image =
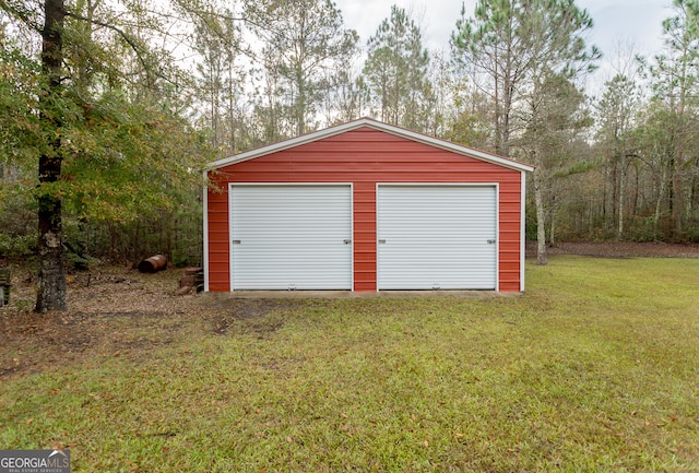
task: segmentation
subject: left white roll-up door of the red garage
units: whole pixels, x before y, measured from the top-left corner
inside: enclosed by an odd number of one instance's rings
[[[232,185],[235,289],[351,289],[350,186]]]

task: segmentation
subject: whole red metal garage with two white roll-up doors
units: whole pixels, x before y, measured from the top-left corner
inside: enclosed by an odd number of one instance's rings
[[[521,292],[531,170],[367,118],[217,161],[205,289]]]

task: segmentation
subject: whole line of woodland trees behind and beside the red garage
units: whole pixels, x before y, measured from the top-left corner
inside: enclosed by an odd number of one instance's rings
[[[197,264],[205,163],[363,116],[535,165],[540,263],[698,241],[699,0],[668,1],[663,50],[591,91],[574,0],[478,0],[440,51],[398,5],[364,39],[331,0],[0,0],[0,259],[40,311],[91,258]]]

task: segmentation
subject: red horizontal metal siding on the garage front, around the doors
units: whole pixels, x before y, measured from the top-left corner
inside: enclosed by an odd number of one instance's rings
[[[499,184],[499,291],[520,289],[521,173],[371,128],[347,131],[212,173],[209,289],[229,291],[228,182],[352,182],[354,289],[376,291],[376,188],[381,182]]]

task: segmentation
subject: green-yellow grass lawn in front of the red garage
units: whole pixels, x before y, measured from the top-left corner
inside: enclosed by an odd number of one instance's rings
[[[69,447],[74,472],[699,471],[699,259],[556,257],[526,289],[102,317],[122,351],[0,378],[0,449]]]

